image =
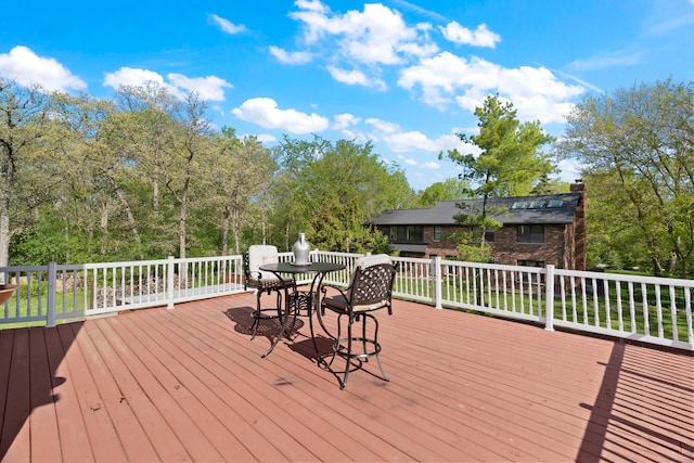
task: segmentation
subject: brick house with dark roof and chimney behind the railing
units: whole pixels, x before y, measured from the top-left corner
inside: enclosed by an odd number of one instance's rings
[[[388,210],[368,223],[389,236],[403,257],[458,258],[458,242],[450,235],[471,231],[454,219],[463,213],[461,203],[481,207],[481,200],[442,201],[426,209]],[[583,183],[571,184],[570,193],[491,198],[489,206],[500,211],[490,216],[503,224],[485,235],[494,263],[586,270]]]

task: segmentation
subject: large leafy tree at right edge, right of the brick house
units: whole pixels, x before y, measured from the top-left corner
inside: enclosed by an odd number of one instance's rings
[[[587,95],[557,153],[584,166],[589,256],[607,260],[618,250],[611,260],[694,274],[694,82]]]

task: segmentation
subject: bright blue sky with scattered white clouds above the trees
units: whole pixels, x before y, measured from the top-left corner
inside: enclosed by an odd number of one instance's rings
[[[217,127],[371,141],[422,190],[460,169],[474,108],[499,93],[561,137],[590,92],[694,79],[694,0],[5,2],[0,74],[112,98],[197,91]],[[562,178],[576,177],[573,163]]]

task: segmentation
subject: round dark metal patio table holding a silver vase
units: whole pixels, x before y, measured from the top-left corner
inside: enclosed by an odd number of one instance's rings
[[[321,363],[321,356],[318,350],[318,344],[316,343],[316,335],[313,332],[313,312],[318,313],[318,321],[323,329],[325,330],[325,325],[321,319],[320,313],[320,288],[323,283],[323,279],[327,273],[344,270],[346,267],[342,263],[334,262],[309,262],[306,265],[298,265],[294,262],[277,262],[277,263],[267,263],[261,266],[259,269],[262,271],[274,273],[278,278],[285,282],[284,284],[284,313],[282,319],[282,329],[280,333],[277,335],[270,348],[262,355],[262,358],[267,357],[272,352],[275,346],[283,339],[287,338],[292,329],[294,327],[294,323],[296,322],[296,317],[300,316],[301,310],[306,310],[308,316],[308,324],[310,330],[311,340],[313,343],[313,348],[316,349],[316,359],[318,364]],[[313,279],[311,280],[308,290],[297,290],[295,285],[286,284],[286,280],[282,279],[282,274],[292,274],[293,276],[297,274],[312,273]]]

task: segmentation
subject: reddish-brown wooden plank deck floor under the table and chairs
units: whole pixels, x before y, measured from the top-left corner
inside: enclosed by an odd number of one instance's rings
[[[306,319],[261,359],[277,329],[249,340],[254,305],[0,331],[0,460],[694,461],[691,352],[396,301],[391,382],[340,390]]]

